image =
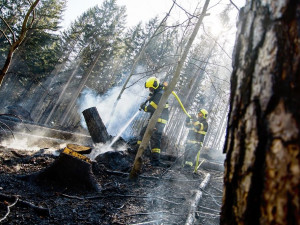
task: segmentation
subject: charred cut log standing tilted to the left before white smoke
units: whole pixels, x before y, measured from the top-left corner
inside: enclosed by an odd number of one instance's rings
[[[110,139],[96,107],[88,108],[82,114],[94,143],[105,143]]]

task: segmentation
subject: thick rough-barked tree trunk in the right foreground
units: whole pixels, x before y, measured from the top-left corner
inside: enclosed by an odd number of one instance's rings
[[[299,36],[298,0],[240,12],[221,224],[300,224]]]

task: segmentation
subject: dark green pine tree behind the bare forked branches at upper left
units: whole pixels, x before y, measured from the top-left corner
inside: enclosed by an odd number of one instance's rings
[[[15,33],[20,32],[26,6],[28,7],[28,1],[7,1],[3,5],[4,20]],[[7,101],[2,104],[23,101],[27,95],[32,94],[31,91],[35,90],[36,85],[53,70],[57,58],[60,56],[57,51],[58,35],[55,34],[55,31],[59,29],[58,25],[64,6],[65,2],[62,0],[43,0],[37,5],[35,19],[12,58],[8,79],[1,90],[2,95],[12,98],[5,98]],[[6,29],[3,24],[1,24],[2,28]],[[3,60],[4,52],[7,51],[6,42],[1,42],[0,60]],[[1,62],[3,63],[3,61]],[[13,91],[7,88],[10,85],[15,86]],[[23,102],[23,105],[26,105],[26,101]]]

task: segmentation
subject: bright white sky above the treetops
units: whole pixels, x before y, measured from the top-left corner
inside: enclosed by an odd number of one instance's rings
[[[180,5],[184,6],[189,12],[193,12],[198,0],[177,0]],[[211,0],[210,5],[215,5],[219,0]],[[238,6],[242,7],[245,0],[233,0]],[[63,28],[67,28],[72,21],[80,16],[87,9],[103,3],[103,0],[67,0],[67,8],[64,13]],[[229,0],[223,0],[221,4],[229,3]],[[159,16],[163,18],[171,8],[172,0],[117,0],[118,5],[124,5],[127,9],[127,25],[129,27],[136,25],[138,22],[147,22],[149,19]],[[204,0],[201,2],[201,6]],[[177,7],[171,15],[171,20],[180,20],[180,17],[186,18],[183,11]]]

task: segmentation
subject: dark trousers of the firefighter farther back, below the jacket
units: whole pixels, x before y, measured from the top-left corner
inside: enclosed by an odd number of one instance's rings
[[[195,171],[197,170],[197,167],[199,165],[199,156],[200,156],[200,150],[201,150],[202,144],[197,143],[187,143],[185,147],[184,152],[184,159],[183,164],[184,166],[191,166],[195,168]]]

